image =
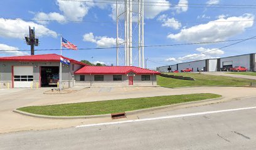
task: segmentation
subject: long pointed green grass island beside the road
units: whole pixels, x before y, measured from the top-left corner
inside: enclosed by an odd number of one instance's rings
[[[134,111],[137,109],[153,108],[157,106],[165,106],[220,97],[220,95],[208,93],[186,94],[174,96],[156,96],[149,98],[119,99],[87,103],[58,104],[49,106],[29,106],[25,108],[19,108],[18,110],[48,116],[87,116]]]

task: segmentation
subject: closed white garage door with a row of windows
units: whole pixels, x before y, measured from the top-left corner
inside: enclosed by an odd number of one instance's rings
[[[33,66],[13,67],[14,88],[30,88],[33,84]]]

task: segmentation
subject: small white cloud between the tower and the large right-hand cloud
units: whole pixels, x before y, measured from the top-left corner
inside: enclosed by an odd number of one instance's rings
[[[174,19],[174,17],[169,18],[166,14],[159,16],[157,20],[163,22],[162,26],[165,27],[171,27],[173,29],[179,29],[181,27],[181,22]]]

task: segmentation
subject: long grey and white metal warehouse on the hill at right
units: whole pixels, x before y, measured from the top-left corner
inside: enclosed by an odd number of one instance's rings
[[[227,58],[218,59],[204,59],[200,61],[190,61],[186,63],[179,63],[170,66],[161,66],[157,68],[160,72],[169,72],[182,69],[192,69],[196,71],[221,71],[223,68],[233,68],[235,66],[243,66],[248,71],[256,71],[256,56],[253,54],[243,54],[239,56],[230,56]]]

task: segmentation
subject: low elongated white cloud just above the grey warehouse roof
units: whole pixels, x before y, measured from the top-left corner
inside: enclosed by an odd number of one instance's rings
[[[220,49],[206,49],[204,47],[199,47],[196,51],[200,53],[188,54],[179,58],[168,58],[166,61],[174,61],[176,63],[182,63],[183,61],[198,61],[203,59],[212,59],[218,58],[219,56],[224,54],[224,51]]]

